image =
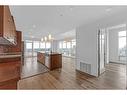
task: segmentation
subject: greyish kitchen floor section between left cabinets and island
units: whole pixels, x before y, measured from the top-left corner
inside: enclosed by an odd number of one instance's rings
[[[31,77],[48,71],[47,67],[37,62],[37,57],[26,57],[24,65],[22,65],[21,78]]]

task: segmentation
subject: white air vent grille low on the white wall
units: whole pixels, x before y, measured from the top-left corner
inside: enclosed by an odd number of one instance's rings
[[[80,70],[85,73],[91,74],[91,64],[80,62]]]

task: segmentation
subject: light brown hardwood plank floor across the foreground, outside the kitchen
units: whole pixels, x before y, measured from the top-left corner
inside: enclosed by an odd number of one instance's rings
[[[126,66],[109,64],[100,77],[75,71],[75,60],[63,57],[62,69],[22,79],[18,89],[126,89]]]

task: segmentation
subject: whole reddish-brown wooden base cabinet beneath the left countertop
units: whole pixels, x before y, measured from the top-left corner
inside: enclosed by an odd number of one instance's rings
[[[21,61],[0,63],[0,89],[17,89]]]

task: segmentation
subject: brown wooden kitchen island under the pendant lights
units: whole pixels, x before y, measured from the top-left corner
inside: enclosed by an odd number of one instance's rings
[[[45,65],[49,70],[62,67],[62,54],[56,52],[37,52],[37,61]]]

